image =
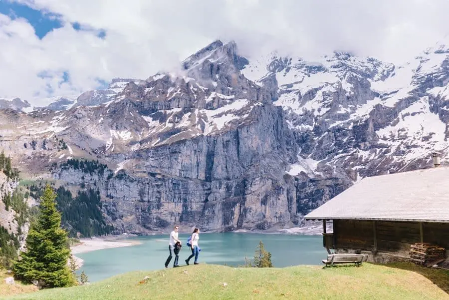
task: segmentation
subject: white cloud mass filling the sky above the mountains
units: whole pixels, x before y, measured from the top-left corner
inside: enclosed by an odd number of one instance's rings
[[[0,95],[38,104],[49,87],[76,94],[96,78],[147,78],[216,38],[234,39],[246,56],[342,50],[402,62],[449,32],[448,0],[15,1],[107,32],[103,40],[66,23],[39,40],[26,20],[0,14]],[[70,84],[58,83],[64,71]]]

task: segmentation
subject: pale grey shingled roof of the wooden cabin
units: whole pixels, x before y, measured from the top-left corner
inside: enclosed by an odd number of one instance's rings
[[[366,177],[304,219],[449,223],[449,167]]]

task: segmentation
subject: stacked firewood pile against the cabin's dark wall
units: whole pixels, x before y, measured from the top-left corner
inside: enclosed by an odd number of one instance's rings
[[[446,259],[446,249],[428,243],[416,243],[410,247],[409,255],[417,265],[432,266]]]

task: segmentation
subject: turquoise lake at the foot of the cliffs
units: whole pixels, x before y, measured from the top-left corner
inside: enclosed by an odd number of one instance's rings
[[[185,245],[188,234],[180,234]],[[110,248],[81,253],[77,256],[84,260],[84,271],[90,282],[130,272],[151,271],[164,268],[168,257],[168,235],[133,237],[142,244],[122,248]],[[284,235],[284,234],[248,234],[248,233],[202,233],[200,235],[199,262],[237,266],[244,264],[245,256],[252,258],[255,249],[262,241],[265,249],[271,252],[274,267],[296,265],[320,265],[327,256],[321,236]],[[191,254],[183,246],[180,252],[180,265]],[[173,267],[172,259],[169,268]],[[191,260],[193,263],[193,259]]]

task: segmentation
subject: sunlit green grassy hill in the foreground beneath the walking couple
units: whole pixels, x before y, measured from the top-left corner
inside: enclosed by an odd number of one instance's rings
[[[444,277],[449,280],[449,274],[441,272],[443,281]],[[146,276],[149,278],[144,280]],[[198,265],[132,272],[88,286],[42,290],[6,299],[449,300],[449,295],[418,273],[372,264],[326,269],[318,266],[253,269]]]

